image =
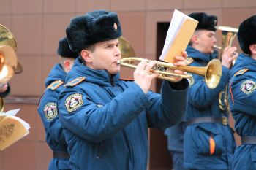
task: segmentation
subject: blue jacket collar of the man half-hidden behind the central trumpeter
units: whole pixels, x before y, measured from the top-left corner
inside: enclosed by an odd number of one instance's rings
[[[50,73],[48,74],[48,77],[45,80],[45,87],[50,85],[53,81],[61,80],[65,81],[67,76],[67,73],[64,72],[64,70],[61,67],[60,63],[57,63],[55,66],[53,66],[53,69],[50,70]]]

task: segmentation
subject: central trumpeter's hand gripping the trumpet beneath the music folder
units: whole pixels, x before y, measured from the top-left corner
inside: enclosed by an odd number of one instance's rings
[[[187,52],[186,51],[182,51],[182,56],[175,56],[174,57],[174,61],[173,61],[173,65],[174,66],[187,66],[187,62],[186,62],[186,58],[187,58]],[[186,75],[187,72],[178,70],[178,69],[170,69],[167,68],[167,72],[172,72],[175,74],[181,74],[181,75]],[[179,82],[181,81],[183,78],[182,77],[175,77],[175,76],[169,76],[172,77],[173,80],[171,80],[172,82]]]

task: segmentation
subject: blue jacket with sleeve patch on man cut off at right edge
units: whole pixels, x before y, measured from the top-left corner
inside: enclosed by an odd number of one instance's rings
[[[256,136],[256,60],[241,53],[230,71],[230,111],[239,136]],[[256,169],[256,145],[242,144],[234,155],[234,170]]]

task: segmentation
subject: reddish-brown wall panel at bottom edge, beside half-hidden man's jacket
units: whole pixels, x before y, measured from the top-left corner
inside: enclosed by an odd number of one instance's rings
[[[36,169],[46,170],[48,169],[49,162],[53,158],[53,153],[45,142],[37,142],[36,144]]]

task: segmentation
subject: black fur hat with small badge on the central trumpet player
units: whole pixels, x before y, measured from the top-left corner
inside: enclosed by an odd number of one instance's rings
[[[66,34],[71,49],[80,53],[89,45],[117,39],[121,36],[121,24],[116,12],[96,10],[72,18]]]

